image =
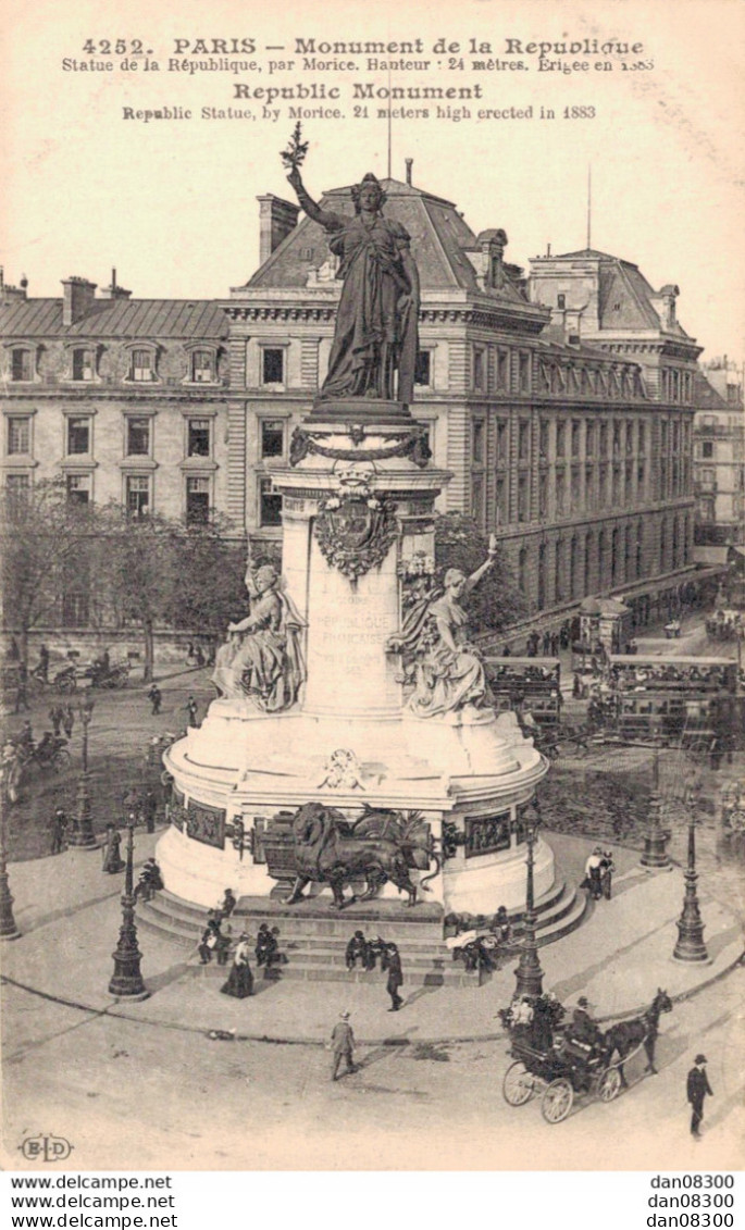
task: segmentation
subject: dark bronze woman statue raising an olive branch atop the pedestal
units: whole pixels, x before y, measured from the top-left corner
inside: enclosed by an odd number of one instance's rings
[[[408,232],[384,218],[386,197],[374,175],[352,189],[354,216],[321,209],[296,166],[288,180],[307,216],[329,232],[331,251],[341,258],[337,278],[344,283],[318,400],[376,397],[408,405],[419,319],[419,276]]]

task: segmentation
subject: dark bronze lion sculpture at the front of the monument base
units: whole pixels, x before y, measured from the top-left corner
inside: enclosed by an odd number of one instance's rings
[[[395,812],[370,808],[357,824],[349,824],[334,807],[306,803],[293,820],[298,879],[288,905],[299,902],[304,888],[317,881],[331,886],[334,905],[343,909],[350,904],[344,898],[344,884],[353,879],[366,881],[361,900],[375,897],[390,879],[407,893],[407,905],[414,905],[417,886],[409,868],[425,871],[434,860],[435,872],[425,878],[432,879],[439,871],[439,859],[424,828],[419,824],[407,827]],[[424,881],[419,887],[425,887]]]

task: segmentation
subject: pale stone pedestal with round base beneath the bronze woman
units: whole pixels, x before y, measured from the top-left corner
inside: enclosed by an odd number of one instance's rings
[[[412,878],[428,881],[420,897],[445,915],[525,902],[521,809],[547,764],[510,713],[466,704],[418,717],[408,705],[391,638],[408,562],[434,555],[434,499],[449,475],[427,464],[406,407],[370,405],[317,406],[293,439],[295,464],[273,472],[283,583],[306,625],[298,704],[268,713],[215,700],[166,755],[176,802],[156,857],[166,888],[205,908],[226,887],[268,897],[282,868],[275,850],[267,861],[267,831],[312,802],[350,822],[366,809],[418,813],[436,859]],[[553,854],[540,841],[535,856],[540,897]],[[391,883],[381,895],[400,898]]]

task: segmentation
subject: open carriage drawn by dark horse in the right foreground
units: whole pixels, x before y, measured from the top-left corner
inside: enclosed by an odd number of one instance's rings
[[[593,1037],[585,1038],[573,1036],[570,1026],[556,1033],[545,1030],[537,1033],[532,1022],[515,1025],[510,1028],[514,1061],[502,1084],[504,1100],[510,1106],[524,1106],[540,1095],[547,1123],[566,1119],[577,1095],[612,1102],[627,1086],[623,1065],[642,1049],[647,1053],[647,1070],[655,1071],[659,1017],[671,1009],[666,991],[658,990],[641,1017],[621,1021],[606,1033],[596,1028]]]

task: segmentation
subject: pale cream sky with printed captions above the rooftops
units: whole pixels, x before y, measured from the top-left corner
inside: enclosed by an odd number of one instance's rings
[[[160,71],[65,71],[63,62],[91,60],[87,39],[141,39]],[[262,71],[186,74],[167,71],[176,39],[253,39]],[[304,177],[318,197],[326,188],[387,169],[387,124],[369,105],[354,116],[354,81],[388,84],[385,71],[305,71],[298,38],[402,41],[422,38],[429,69],[393,71],[391,85],[470,87],[482,100],[454,101],[470,118],[391,122],[393,175],[404,178],[414,159],[414,183],[456,202],[475,231],[502,226],[507,257],[524,264],[586,242],[588,167],[593,176],[591,245],[637,263],[659,288],[680,287],[679,319],[704,347],[704,359],[745,357],[744,159],[745,5],[740,0],[192,0],[154,5],[128,0],[6,0],[0,82],[0,156],[5,169],[0,204],[0,263],[7,282],[22,274],[30,294],[58,295],[60,279],[89,277],[106,285],[111,269],[139,298],[221,298],[258,263],[256,197],[291,198],[279,151],[293,129],[286,108],[262,118],[266,105],[234,97],[235,84],[251,90],[298,84],[341,86],[343,119],[307,119],[310,141]],[[452,57],[433,52],[436,39],[460,43]],[[492,57],[509,59],[507,39],[535,42],[597,38],[642,43],[623,69],[538,71],[538,57],[522,58],[527,71],[471,69],[470,39],[489,43]],[[268,52],[267,46],[284,47]],[[463,52],[466,53],[463,55]],[[204,60],[198,50],[186,58]],[[182,57],[183,58],[183,57]],[[269,74],[269,59],[291,68]],[[329,57],[318,57],[328,59]],[[339,57],[344,59],[344,57]],[[395,59],[395,55],[390,58]],[[459,68],[463,59],[466,66]],[[452,59],[452,66],[449,62]],[[550,54],[546,60],[557,57]],[[563,57],[573,63],[577,57]],[[583,57],[579,57],[583,59]],[[649,66],[652,65],[652,66]],[[299,103],[296,103],[299,105]],[[305,103],[311,106],[312,103]],[[200,118],[202,107],[254,108],[254,119]],[[446,106],[446,105],[445,105]],[[125,119],[132,111],[191,109],[192,121]],[[525,111],[532,118],[477,117],[478,109]],[[556,118],[537,118],[551,108]],[[595,114],[564,118],[564,108]]]

